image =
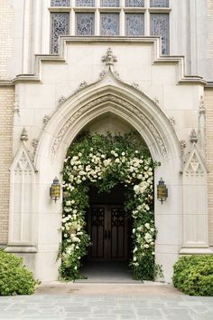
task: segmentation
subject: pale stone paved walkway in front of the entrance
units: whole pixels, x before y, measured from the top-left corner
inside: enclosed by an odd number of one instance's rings
[[[213,297],[152,283],[51,283],[33,296],[0,297],[0,319],[213,320]]]

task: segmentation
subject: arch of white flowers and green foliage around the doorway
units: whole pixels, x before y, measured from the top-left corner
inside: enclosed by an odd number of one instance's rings
[[[154,278],[154,166],[149,150],[132,131],[116,136],[85,132],[71,144],[63,168],[60,278],[80,277],[81,259],[92,245],[85,221],[89,188],[109,192],[118,183],[125,185],[125,212],[133,219],[134,277]]]

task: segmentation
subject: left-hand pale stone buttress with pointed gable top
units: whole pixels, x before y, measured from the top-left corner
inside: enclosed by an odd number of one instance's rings
[[[36,173],[24,142],[14,157],[11,172],[9,246],[6,251],[36,252],[33,246],[33,202]],[[23,249],[24,247],[24,249]]]

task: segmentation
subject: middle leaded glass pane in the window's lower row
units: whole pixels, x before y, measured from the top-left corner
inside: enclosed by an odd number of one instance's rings
[[[100,14],[101,35],[119,34],[119,14]]]

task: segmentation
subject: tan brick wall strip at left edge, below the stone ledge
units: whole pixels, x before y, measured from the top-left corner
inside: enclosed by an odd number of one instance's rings
[[[0,245],[7,243],[12,162],[14,87],[0,86]]]

